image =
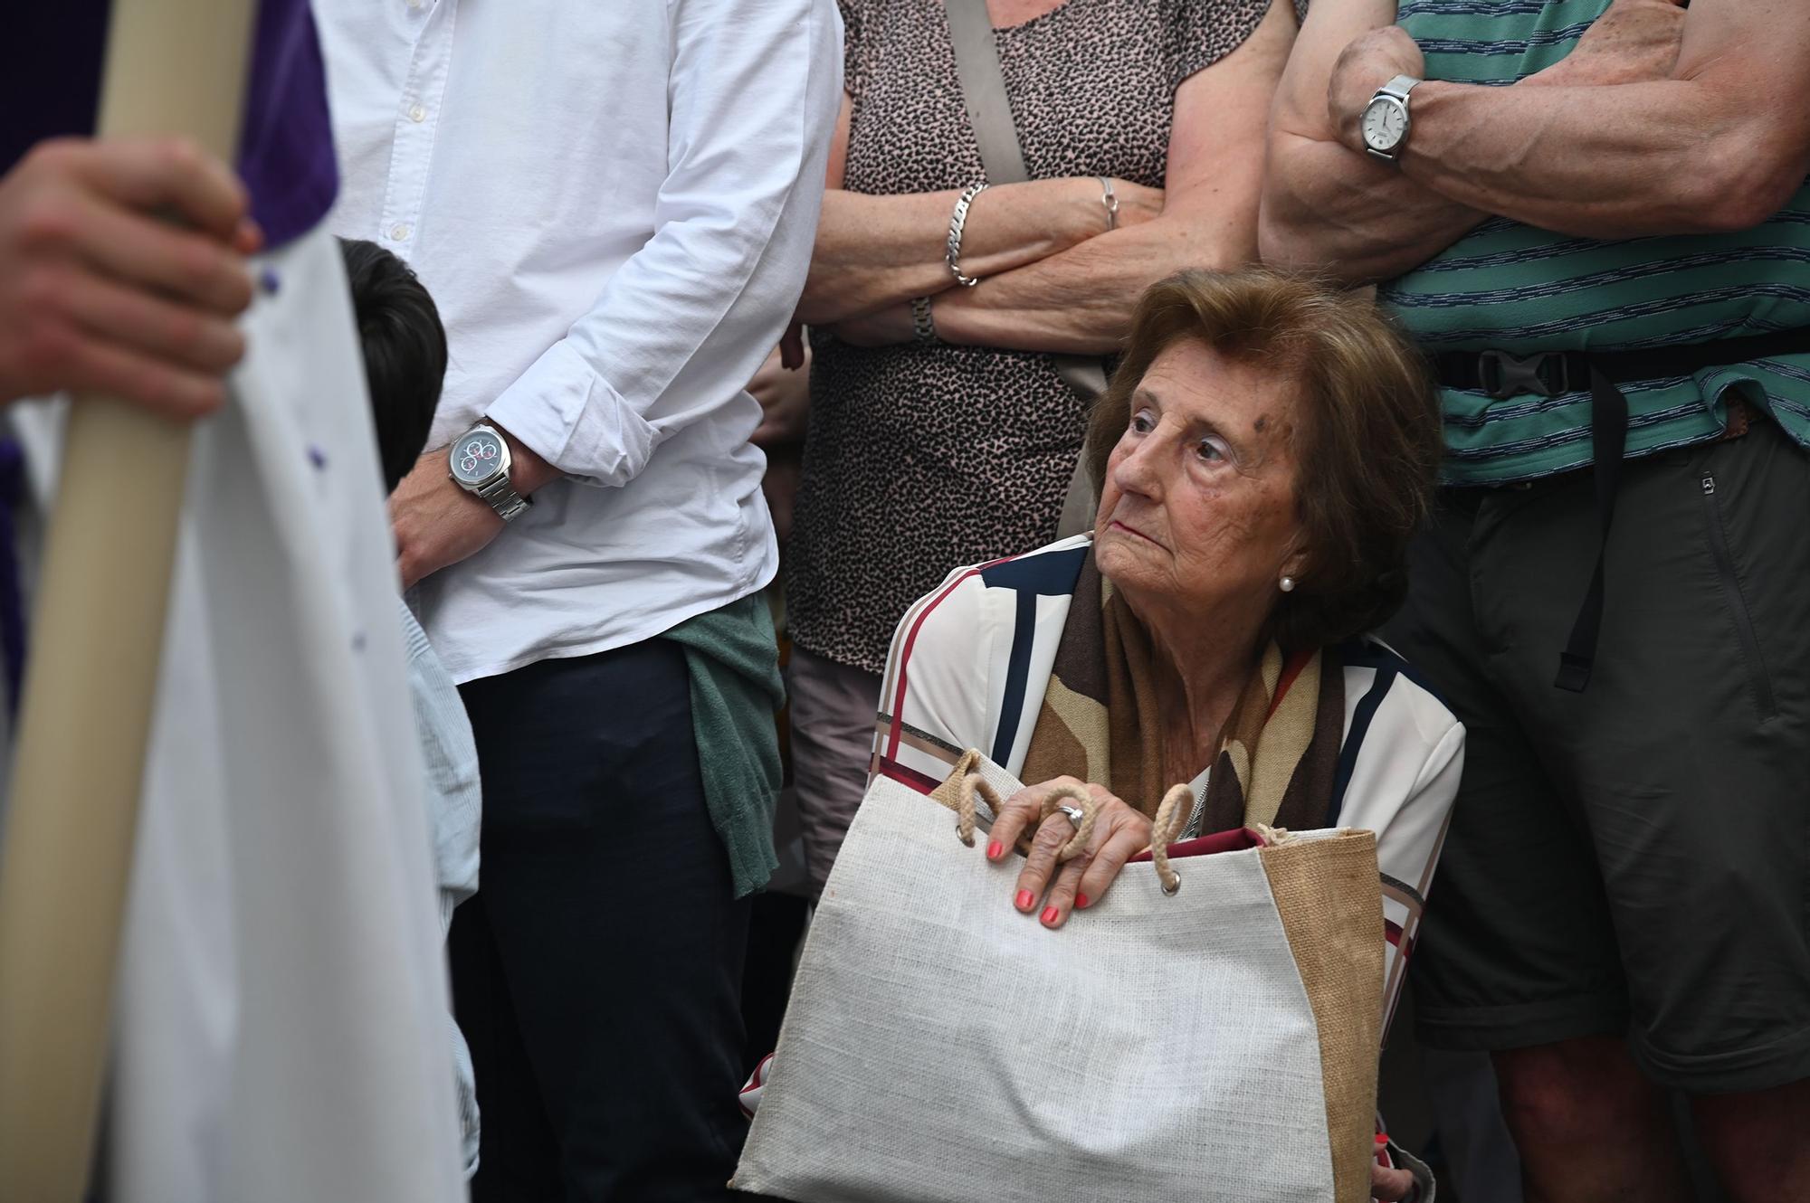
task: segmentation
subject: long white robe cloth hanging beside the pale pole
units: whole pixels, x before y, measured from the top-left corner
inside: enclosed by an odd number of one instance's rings
[[[107,1198],[451,1203],[433,843],[346,273],[322,232],[266,268],[188,465]],[[45,418],[16,414],[40,499]]]

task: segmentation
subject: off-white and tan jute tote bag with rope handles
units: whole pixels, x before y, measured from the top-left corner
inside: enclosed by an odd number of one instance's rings
[[[1019,789],[976,760],[934,796],[867,791],[733,1185],[795,1203],[1365,1203],[1374,836],[1133,863],[1050,932],[1010,906],[1017,857],[988,863],[974,838],[986,796]],[[1180,830],[1175,800],[1157,830]]]

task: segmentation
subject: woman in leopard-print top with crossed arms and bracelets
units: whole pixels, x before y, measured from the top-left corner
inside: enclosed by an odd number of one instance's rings
[[[1030,183],[985,183],[945,9],[838,0],[842,119],[811,279],[811,425],[787,548],[793,763],[820,890],[867,781],[900,615],[954,563],[1048,543],[1086,402],[1055,353],[1110,355],[1146,286],[1256,259],[1271,0],[986,0]],[[1117,219],[1104,203],[1111,181]],[[934,338],[916,336],[929,298]],[[919,313],[923,306],[919,304]]]

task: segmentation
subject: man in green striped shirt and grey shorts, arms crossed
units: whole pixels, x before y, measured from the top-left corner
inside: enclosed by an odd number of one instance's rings
[[[1730,1198],[1810,1199],[1806,170],[1803,0],[1321,2],[1281,83],[1265,257],[1444,385],[1388,631],[1470,731],[1417,1009],[1529,1199],[1689,1198],[1660,1087]]]

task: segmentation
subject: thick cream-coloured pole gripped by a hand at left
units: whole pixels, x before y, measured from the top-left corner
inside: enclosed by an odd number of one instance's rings
[[[232,161],[253,0],[114,0],[100,132]],[[72,407],[0,834],[0,1199],[80,1203],[163,653],[188,425]]]

